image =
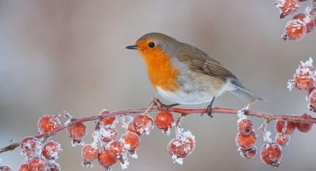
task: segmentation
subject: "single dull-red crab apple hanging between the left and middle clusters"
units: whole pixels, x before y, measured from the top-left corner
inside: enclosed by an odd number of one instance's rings
[[[86,137],[86,125],[81,122],[75,123],[67,128],[67,134],[71,139],[81,140]]]

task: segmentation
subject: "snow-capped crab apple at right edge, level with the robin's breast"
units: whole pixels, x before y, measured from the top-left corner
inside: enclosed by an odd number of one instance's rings
[[[308,63],[310,61],[307,61]],[[294,82],[295,87],[299,91],[310,91],[312,87],[314,87],[315,82],[315,68],[312,66],[311,63],[305,64],[303,63],[302,66],[300,66],[294,75]]]

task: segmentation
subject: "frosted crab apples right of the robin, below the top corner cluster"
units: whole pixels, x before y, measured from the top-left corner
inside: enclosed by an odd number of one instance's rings
[[[294,79],[289,80],[288,88],[293,89],[296,87],[299,91],[308,91],[308,101],[310,102],[310,110],[315,111],[316,108],[316,87],[315,87],[316,73],[315,68],[312,66],[312,58],[305,63],[301,62],[295,72]],[[275,141],[269,138],[271,132],[267,132],[266,126],[259,127],[257,132],[254,132],[252,121],[243,115],[243,110],[240,110],[238,116],[238,134],[236,136],[236,144],[239,147],[240,155],[244,158],[251,159],[257,154],[257,133],[260,129],[263,130],[264,140],[266,144],[260,148],[260,158],[262,163],[271,165],[271,167],[278,167],[282,157],[281,146],[287,146],[290,141],[290,135],[293,134],[295,129],[299,132],[310,132],[312,123],[310,122],[294,122],[291,120],[276,120],[274,126],[276,130]],[[301,118],[312,118],[312,115],[303,113]],[[267,122],[268,124],[269,122]]]

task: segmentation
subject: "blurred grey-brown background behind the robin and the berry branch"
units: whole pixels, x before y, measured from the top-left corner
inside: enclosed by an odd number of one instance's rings
[[[290,92],[286,83],[300,61],[316,57],[316,31],[298,42],[283,42],[281,35],[292,16],[279,20],[273,4],[273,0],[0,1],[0,146],[37,135],[42,115],[66,110],[84,118],[98,115],[103,108],[146,108],[152,97],[169,103],[151,87],[139,54],[125,49],[148,32],[168,34],[223,63],[245,87],[268,99],[252,110],[283,115],[308,112],[307,93]],[[306,6],[308,2],[302,3],[299,11]],[[238,109],[245,103],[226,93],[213,106]],[[251,119],[256,129],[264,122]],[[154,128],[141,137],[139,158],[129,158],[127,170],[272,170],[259,155],[252,160],[240,156],[235,145],[237,120],[228,114],[215,114],[212,119],[185,117],[182,127],[194,134],[197,144],[183,165],[173,164],[167,151],[174,129],[167,137]],[[94,123],[86,125],[88,143]],[[121,125],[117,129],[124,133]],[[274,122],[268,129],[274,139]],[[295,131],[276,170],[315,170],[315,131]],[[62,170],[103,170],[98,161],[93,168],[81,166],[81,146],[72,147],[65,131],[52,139],[64,150],[57,159]],[[262,144],[260,132],[257,147]],[[13,170],[24,163],[20,148],[1,153],[0,158]],[[113,170],[122,168],[117,163]]]

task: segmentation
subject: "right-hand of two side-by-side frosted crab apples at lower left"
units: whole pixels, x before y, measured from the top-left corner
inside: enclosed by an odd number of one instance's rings
[[[56,160],[61,150],[60,144],[55,141],[48,141],[42,148],[42,155],[47,160]]]

